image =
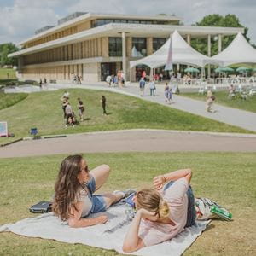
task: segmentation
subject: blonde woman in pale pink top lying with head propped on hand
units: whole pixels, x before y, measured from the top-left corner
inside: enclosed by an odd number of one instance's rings
[[[194,195],[189,187],[191,170],[154,177],[154,189],[142,189],[134,197],[135,218],[125,236],[126,253],[172,239],[184,227],[195,224]],[[175,181],[175,182],[174,182]]]

